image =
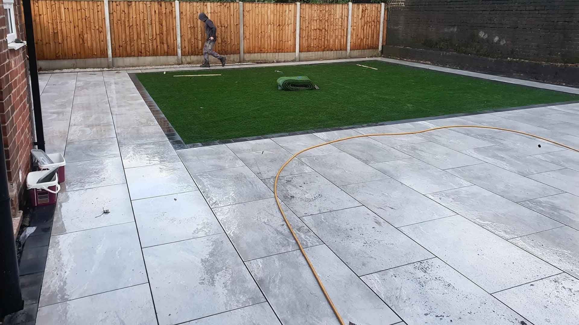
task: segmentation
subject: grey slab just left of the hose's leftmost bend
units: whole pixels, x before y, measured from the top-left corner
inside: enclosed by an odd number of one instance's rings
[[[245,166],[192,176],[211,208],[273,197],[273,192]]]

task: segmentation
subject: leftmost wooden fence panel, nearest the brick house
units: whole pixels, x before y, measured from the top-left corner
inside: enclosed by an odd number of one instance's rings
[[[107,57],[102,1],[35,0],[31,6],[39,60]]]

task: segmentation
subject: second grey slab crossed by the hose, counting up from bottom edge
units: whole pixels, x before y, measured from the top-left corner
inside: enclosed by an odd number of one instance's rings
[[[282,204],[303,247],[323,243],[291,210]],[[213,209],[244,261],[298,249],[274,198]]]

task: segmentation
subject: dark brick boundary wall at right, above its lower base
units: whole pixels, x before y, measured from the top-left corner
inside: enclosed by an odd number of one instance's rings
[[[579,63],[579,0],[405,0],[388,15],[387,45]]]

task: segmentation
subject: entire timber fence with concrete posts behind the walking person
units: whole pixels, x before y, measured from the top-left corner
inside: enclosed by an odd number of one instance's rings
[[[228,62],[307,61],[379,56],[386,44],[381,3],[32,0],[42,69],[201,62],[205,34]]]

